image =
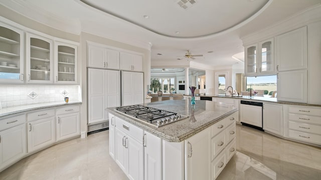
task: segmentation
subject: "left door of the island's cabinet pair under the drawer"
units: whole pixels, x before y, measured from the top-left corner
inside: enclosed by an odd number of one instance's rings
[[[125,148],[126,134],[115,127],[115,161],[119,167],[128,173],[128,150]]]

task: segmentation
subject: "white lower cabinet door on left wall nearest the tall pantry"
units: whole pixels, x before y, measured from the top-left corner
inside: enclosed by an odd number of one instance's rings
[[[80,134],[79,112],[57,116],[57,140]]]

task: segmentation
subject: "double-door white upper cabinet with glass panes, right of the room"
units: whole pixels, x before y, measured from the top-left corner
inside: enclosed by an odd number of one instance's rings
[[[245,47],[245,75],[274,74],[273,38]]]

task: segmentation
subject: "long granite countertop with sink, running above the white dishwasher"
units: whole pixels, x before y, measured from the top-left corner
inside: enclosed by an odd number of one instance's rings
[[[184,94],[184,96],[192,96],[192,94]],[[277,100],[276,97],[261,97],[261,96],[225,96],[225,95],[214,95],[214,94],[195,94],[195,96],[200,97],[223,97],[223,98],[234,98],[234,99],[241,99],[241,100],[254,100],[254,101],[264,101],[264,102],[274,102],[280,104],[289,104],[289,105],[307,105],[307,106],[316,106],[321,107],[321,104],[308,104],[302,102],[288,102],[288,101],[280,101]]]

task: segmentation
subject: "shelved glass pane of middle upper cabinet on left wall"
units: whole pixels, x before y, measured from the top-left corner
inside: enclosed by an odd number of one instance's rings
[[[50,80],[50,43],[38,39],[30,39],[30,79]]]

